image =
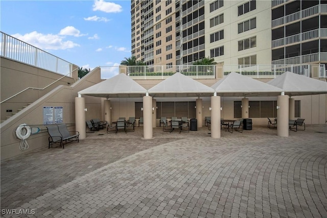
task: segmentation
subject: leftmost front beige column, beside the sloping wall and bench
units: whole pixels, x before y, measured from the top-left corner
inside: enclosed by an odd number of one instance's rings
[[[85,98],[75,98],[75,128],[80,133],[79,139],[86,138]]]

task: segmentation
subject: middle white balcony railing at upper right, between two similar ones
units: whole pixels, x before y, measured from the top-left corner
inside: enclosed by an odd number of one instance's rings
[[[315,39],[319,37],[327,37],[327,28],[311,30],[308,32],[288,36],[285,38],[275,39],[271,41],[271,47],[283,46],[283,45]]]

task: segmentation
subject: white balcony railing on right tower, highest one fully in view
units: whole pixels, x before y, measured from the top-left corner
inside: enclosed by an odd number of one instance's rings
[[[284,17],[279,17],[277,19],[274,19],[271,21],[271,27],[277,27],[280,25],[284,25],[286,23],[299,20],[301,18],[309,17],[318,13],[323,12],[324,10],[327,10],[327,5],[316,5],[311,8],[307,8],[302,11],[295,12],[293,14],[289,14]]]

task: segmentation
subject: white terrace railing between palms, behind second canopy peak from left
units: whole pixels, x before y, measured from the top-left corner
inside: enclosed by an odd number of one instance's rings
[[[162,80],[176,72],[192,79],[214,79],[215,65],[161,65],[127,66],[127,75],[133,80]]]

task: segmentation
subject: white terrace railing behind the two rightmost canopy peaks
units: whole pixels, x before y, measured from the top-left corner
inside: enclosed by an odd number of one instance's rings
[[[243,76],[261,79],[261,78],[276,78],[286,71],[294,72],[294,74],[310,77],[310,64],[295,64],[295,65],[224,65],[223,77],[226,77],[230,72],[237,72]]]

